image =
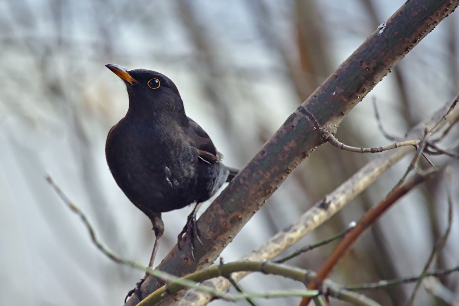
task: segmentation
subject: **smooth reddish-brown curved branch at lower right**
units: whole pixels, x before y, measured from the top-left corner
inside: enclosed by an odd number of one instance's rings
[[[355,241],[360,235],[370,227],[381,215],[387,211],[397,200],[403,195],[406,195],[410,190],[414,189],[418,184],[430,179],[437,173],[437,170],[430,170],[422,173],[416,173],[413,178],[409,179],[406,184],[396,186],[392,191],[382,200],[378,205],[367,211],[364,217],[362,217],[357,225],[340,241],[339,245],[333,250],[331,255],[325,261],[324,265],[320,268],[317,273],[316,280],[308,285],[308,289],[317,289],[318,285],[328,277],[331,270],[336,266],[338,261],[346,254],[346,252],[352,247]],[[303,298],[301,306],[307,306],[310,302],[310,298]]]

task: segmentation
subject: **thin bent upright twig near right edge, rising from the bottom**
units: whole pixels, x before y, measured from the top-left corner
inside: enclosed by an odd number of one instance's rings
[[[440,252],[443,250],[443,247],[446,244],[446,240],[448,239],[449,233],[451,232],[451,225],[453,223],[453,198],[452,198],[452,195],[451,195],[451,184],[450,184],[450,182],[452,180],[452,178],[451,178],[451,169],[449,167],[447,167],[445,169],[445,173],[446,173],[446,185],[447,185],[446,189],[447,189],[447,195],[448,195],[448,223],[447,223],[447,226],[446,226],[446,231],[445,231],[445,234],[443,234],[442,238],[432,248],[431,254],[429,256],[429,259],[425,263],[425,266],[424,266],[424,269],[422,270],[421,276],[418,279],[416,285],[414,286],[413,292],[411,293],[411,296],[410,296],[409,300],[406,303],[407,306],[413,305],[415,295],[416,295],[420,285],[422,284],[422,279],[425,278],[425,276],[427,275],[428,270],[429,270],[432,262],[436,258],[436,255],[440,254]]]

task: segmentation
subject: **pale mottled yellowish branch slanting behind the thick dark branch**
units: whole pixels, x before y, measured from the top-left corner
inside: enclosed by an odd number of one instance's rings
[[[432,128],[447,110],[448,106],[444,106],[430,118],[425,119],[423,122],[411,128],[407,133],[406,139],[420,138],[420,131],[423,131],[425,127]],[[459,109],[456,109],[448,116],[447,122],[442,122],[442,124],[454,122],[458,118]],[[351,178],[347,179],[341,186],[327,195],[325,199],[317,202],[290,226],[275,234],[257,249],[243,256],[240,261],[260,261],[278,256],[283,250],[291,247],[306,234],[312,232],[322,223],[325,223],[325,221],[332,217],[337,211],[341,210],[349,201],[353,200],[372,184],[382,173],[402,159],[403,156],[408,155],[412,150],[411,147],[405,146],[398,150],[384,152],[381,156],[369,161]],[[232,276],[240,280],[247,274],[249,273],[239,272],[234,273]],[[225,278],[215,278],[211,281],[206,281],[205,284],[222,291],[227,290],[231,286]],[[203,306],[210,300],[212,300],[211,295],[202,292],[194,292],[193,294],[185,296],[183,305]],[[182,305],[182,303],[180,304]]]

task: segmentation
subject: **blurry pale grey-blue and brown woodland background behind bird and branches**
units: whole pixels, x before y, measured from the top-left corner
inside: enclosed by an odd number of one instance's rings
[[[143,276],[96,250],[81,221],[45,181],[49,173],[112,250],[147,264],[154,239],[150,221],[123,195],[105,161],[106,134],[128,107],[124,84],[105,64],[166,74],[179,88],[188,116],[224,153],[225,164],[243,167],[403,2],[0,2],[0,305],[121,305]],[[439,24],[355,107],[339,128],[341,141],[389,143],[377,129],[373,98],[386,128],[397,135],[453,100],[459,90],[458,14]],[[450,141],[457,138],[456,130]],[[237,260],[262,244],[371,158],[321,146],[235,237],[224,260]],[[458,181],[457,161],[432,161],[451,163]],[[295,248],[358,220],[393,187],[408,162],[399,162]],[[455,219],[439,268],[458,264],[458,195],[455,189]],[[416,189],[358,241],[332,278],[353,284],[420,273],[434,239],[444,231],[445,207],[441,179]],[[155,266],[176,243],[190,211],[163,215],[166,231]],[[333,247],[290,264],[317,269]],[[456,293],[458,280],[455,274],[442,278]],[[241,284],[247,291],[302,288],[262,275]],[[383,305],[397,305],[412,288],[367,294]],[[299,298],[260,302],[296,305]],[[416,305],[434,303],[442,305],[421,289]]]

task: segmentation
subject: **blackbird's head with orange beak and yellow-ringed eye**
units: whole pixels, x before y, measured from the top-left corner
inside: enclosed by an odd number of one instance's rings
[[[107,64],[105,67],[126,84],[130,111],[153,111],[157,116],[185,115],[179,90],[164,74],[146,69],[129,70],[114,64]]]

